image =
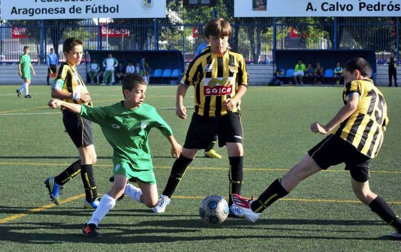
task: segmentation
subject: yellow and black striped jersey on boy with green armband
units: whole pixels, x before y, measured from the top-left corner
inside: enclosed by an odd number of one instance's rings
[[[64,92],[73,93],[89,93],[85,86],[84,81],[77,72],[76,66],[70,65],[68,63],[63,63],[56,72],[56,78],[53,82],[52,89],[62,90]],[[73,99],[63,99],[69,103],[83,104],[82,101],[74,101]],[[85,103],[86,105],[92,107],[92,102]]]

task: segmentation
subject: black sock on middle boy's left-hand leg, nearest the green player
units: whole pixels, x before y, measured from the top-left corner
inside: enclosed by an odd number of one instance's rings
[[[171,198],[171,195],[174,193],[175,188],[177,188],[179,181],[181,181],[186,168],[192,162],[192,160],[193,159],[184,157],[182,154],[175,160],[174,164],[172,165],[166,187],[163,190],[163,195]]]

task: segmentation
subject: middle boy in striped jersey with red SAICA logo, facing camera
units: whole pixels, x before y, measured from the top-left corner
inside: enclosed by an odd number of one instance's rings
[[[186,119],[183,98],[193,86],[194,113],[191,118],[182,154],[174,162],[171,173],[154,212],[164,212],[171,195],[178,186],[186,168],[198,149],[206,149],[218,135],[219,146],[227,146],[229,169],[229,210],[232,216],[243,217],[231,201],[232,193],[241,191],[243,179],[243,132],[241,125],[241,98],[248,88],[248,73],[244,57],[228,48],[231,26],[223,19],[211,20],[205,27],[210,46],[189,64],[178,85],[176,114]]]

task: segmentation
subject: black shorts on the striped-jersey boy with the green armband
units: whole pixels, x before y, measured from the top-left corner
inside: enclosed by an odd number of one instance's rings
[[[93,144],[91,121],[71,111],[63,110],[63,123],[77,148]]]

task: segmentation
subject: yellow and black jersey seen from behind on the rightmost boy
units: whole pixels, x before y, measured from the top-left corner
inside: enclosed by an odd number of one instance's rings
[[[355,146],[360,153],[374,158],[383,142],[382,126],[388,123],[387,105],[383,94],[370,79],[346,84],[342,95],[344,104],[352,93],[359,95],[358,106],[335,134]]]

